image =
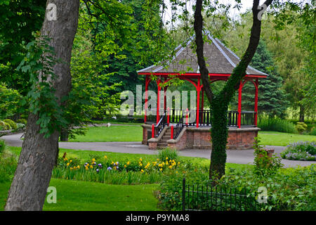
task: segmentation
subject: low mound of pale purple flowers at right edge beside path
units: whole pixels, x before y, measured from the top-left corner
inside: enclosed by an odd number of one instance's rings
[[[296,143],[291,143],[280,155],[287,160],[315,161],[316,142],[298,141]]]

